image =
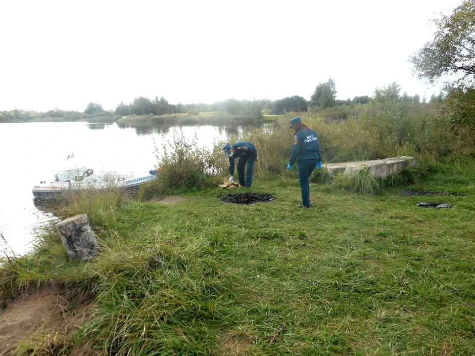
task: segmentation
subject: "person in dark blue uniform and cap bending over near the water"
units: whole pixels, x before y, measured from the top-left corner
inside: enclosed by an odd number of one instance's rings
[[[238,161],[238,178],[239,185],[249,188],[252,185],[252,173],[254,171],[254,161],[257,160],[257,149],[250,142],[239,141],[234,145],[226,143],[223,146],[223,152],[229,157],[229,181],[234,182],[234,164],[235,159]],[[247,163],[247,172],[244,175],[244,169]]]

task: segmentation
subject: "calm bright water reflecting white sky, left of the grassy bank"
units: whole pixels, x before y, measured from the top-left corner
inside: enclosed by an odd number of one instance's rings
[[[137,129],[86,122],[0,124],[0,253],[28,253],[48,222],[57,218],[38,209],[31,189],[59,171],[87,167],[95,171],[148,172],[163,144],[176,137],[204,148],[226,140],[215,126]],[[74,158],[68,156],[74,155]]]

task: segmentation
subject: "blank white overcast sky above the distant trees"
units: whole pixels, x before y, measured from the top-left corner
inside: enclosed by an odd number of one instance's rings
[[[393,82],[429,99],[409,57],[462,1],[4,0],[0,111],[309,100],[330,78],[337,99]]]

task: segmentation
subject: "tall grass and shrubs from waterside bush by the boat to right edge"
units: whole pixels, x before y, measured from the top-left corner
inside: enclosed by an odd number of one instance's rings
[[[310,128],[317,131],[324,163],[413,156],[420,163],[414,171],[423,171],[424,167],[435,164],[443,157],[470,157],[474,152],[473,145],[468,144],[469,135],[461,134],[464,132],[460,130],[457,133],[451,131],[447,120],[438,115],[431,105],[377,103],[358,106],[350,113],[346,120],[329,120],[318,113],[288,113],[275,120],[271,127],[247,128],[231,134],[228,141],[249,141],[257,147],[257,179],[275,175],[285,178],[289,175],[285,168],[292,150],[288,122],[295,115],[300,115]],[[158,185],[155,185],[156,189],[149,189],[144,196],[165,194],[181,187],[209,187],[221,182],[226,178],[228,169],[228,158],[221,152],[223,143],[218,142],[211,152],[180,140],[164,147],[165,157],[161,165],[167,168]],[[403,174],[391,176],[385,183],[366,179],[368,189],[358,187],[363,183],[360,181],[362,177],[338,178],[338,184],[348,189],[354,187],[359,192],[377,192],[380,191],[378,186],[387,186],[390,180],[392,184],[400,185],[404,180]],[[415,176],[409,178],[414,181]],[[332,180],[318,171],[312,179],[315,182]]]

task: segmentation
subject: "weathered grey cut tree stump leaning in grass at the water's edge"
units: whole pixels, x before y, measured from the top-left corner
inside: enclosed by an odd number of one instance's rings
[[[69,261],[89,260],[99,253],[97,236],[87,214],[76,215],[56,224]]]

